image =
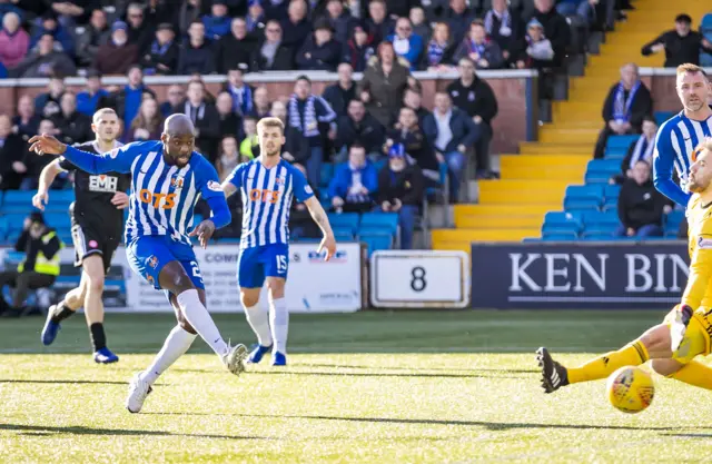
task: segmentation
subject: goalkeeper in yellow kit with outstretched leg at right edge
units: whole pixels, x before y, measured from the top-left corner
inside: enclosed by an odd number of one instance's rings
[[[581,367],[566,368],[552,359],[546,348],[540,348],[536,358],[545,393],[605,378],[620,367],[637,366],[649,359],[657,374],[712,389],[712,368],[694,361],[699,355],[709,355],[712,344],[712,138],[704,139],[691,158],[690,275],[682,303],[662,324],[647,329],[636,340]]]

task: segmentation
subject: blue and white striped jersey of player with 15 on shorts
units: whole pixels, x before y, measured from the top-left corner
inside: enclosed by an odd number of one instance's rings
[[[267,169],[259,158],[235,168],[228,181],[243,197],[240,248],[289,243],[291,198],[306,201],[314,196],[301,171],[284,159]]]

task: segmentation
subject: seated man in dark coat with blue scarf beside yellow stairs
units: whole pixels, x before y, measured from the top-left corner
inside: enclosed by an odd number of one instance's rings
[[[603,103],[605,127],[599,135],[594,158],[603,158],[609,136],[641,134],[643,119],[653,113],[653,99],[640,80],[637,66],[624,65],[621,80],[614,83]]]

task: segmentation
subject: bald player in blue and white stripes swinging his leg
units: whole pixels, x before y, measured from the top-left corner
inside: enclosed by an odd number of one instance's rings
[[[126,255],[131,269],[162,289],[176,312],[178,325],[166,338],[154,363],[129,384],[126,407],[138,413],[151,385],[190,348],[197,334],[233,374],[245,371],[247,348],[230,347],[206,309],[205,285],[189,237],[205,248],[218,227],[229,224],[230,210],[212,165],[194,151],[195,128],[186,115],[166,119],[159,140],[134,142],[103,155],[89,154],[46,134],[29,141],[38,154],[62,155],[89,174],[120,172],[131,176]],[[192,231],[192,211],[202,196],[212,217]]]

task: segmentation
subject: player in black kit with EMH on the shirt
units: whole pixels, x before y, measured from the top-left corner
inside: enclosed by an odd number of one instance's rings
[[[93,141],[77,148],[100,155],[121,146],[116,140],[119,135],[119,118],[110,108],[95,112],[91,130],[97,135]],[[60,323],[85,307],[87,326],[93,345],[93,361],[100,364],[116,363],[119,357],[107,348],[103,333],[103,279],[111,267],[111,258],[121,240],[123,231],[123,209],[129,206],[126,191],[131,178],[126,174],[108,172],[93,175],[77,169],[66,158],[50,162],[40,174],[40,185],[32,198],[36,208],[44,210],[49,201],[49,187],[60,172],[75,171],[75,203],[70,207],[71,238],[75,243],[75,266],[81,267],[79,287],[65,295],[65,299],[50,306],[42,344],[51,345],[57,338]]]

